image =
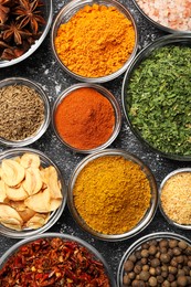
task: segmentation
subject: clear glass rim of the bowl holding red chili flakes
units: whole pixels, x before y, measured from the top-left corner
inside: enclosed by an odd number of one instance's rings
[[[106,276],[109,279],[109,286],[110,287],[116,287],[116,281],[114,279],[114,275],[110,270],[110,268],[108,267],[108,264],[106,263],[106,261],[104,259],[104,257],[100,255],[100,253],[93,247],[91,244],[88,244],[87,242],[81,240],[79,237],[76,236],[72,236],[68,234],[61,234],[61,233],[44,233],[43,235],[35,235],[35,236],[31,236],[30,238],[25,238],[22,240],[18,243],[15,243],[11,248],[9,248],[0,258],[0,269],[3,268],[4,264],[7,263],[7,261],[13,256],[22,246],[26,246],[28,244],[35,242],[41,238],[61,238],[63,242],[75,242],[78,244],[78,246],[84,247],[88,251],[89,254],[93,255],[93,258],[95,258],[95,261],[98,261],[103,264],[104,266],[104,270]],[[34,254],[35,256],[35,254]],[[66,259],[67,261],[67,259]]]

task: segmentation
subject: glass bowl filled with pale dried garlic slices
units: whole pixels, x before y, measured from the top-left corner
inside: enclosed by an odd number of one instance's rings
[[[0,234],[25,238],[47,231],[66,205],[57,166],[40,150],[12,148],[0,153]]]

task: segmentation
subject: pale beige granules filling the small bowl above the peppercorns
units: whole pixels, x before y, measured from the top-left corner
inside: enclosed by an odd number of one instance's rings
[[[160,201],[170,220],[191,225],[191,171],[170,177],[161,189]]]

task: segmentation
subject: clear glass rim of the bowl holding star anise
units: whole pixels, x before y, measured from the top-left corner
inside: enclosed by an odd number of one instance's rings
[[[52,0],[42,0],[41,1],[43,3],[42,7],[40,7],[40,10],[42,11],[43,18],[45,20],[45,25],[42,25],[40,29],[41,32],[41,36],[35,40],[34,44],[31,45],[31,47],[21,56],[13,59],[13,60],[0,60],[0,67],[7,67],[7,66],[11,66],[14,64],[20,63],[21,61],[25,60],[26,57],[29,57],[32,53],[34,53],[34,51],[42,44],[42,42],[44,41],[50,28],[51,28],[51,23],[52,23],[52,18],[53,18],[53,6],[52,6]]]

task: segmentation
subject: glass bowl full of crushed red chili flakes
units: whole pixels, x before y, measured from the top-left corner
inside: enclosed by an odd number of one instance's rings
[[[14,283],[15,278],[17,284],[116,287],[113,273],[97,249],[61,233],[35,235],[7,251],[0,258],[0,281]]]

